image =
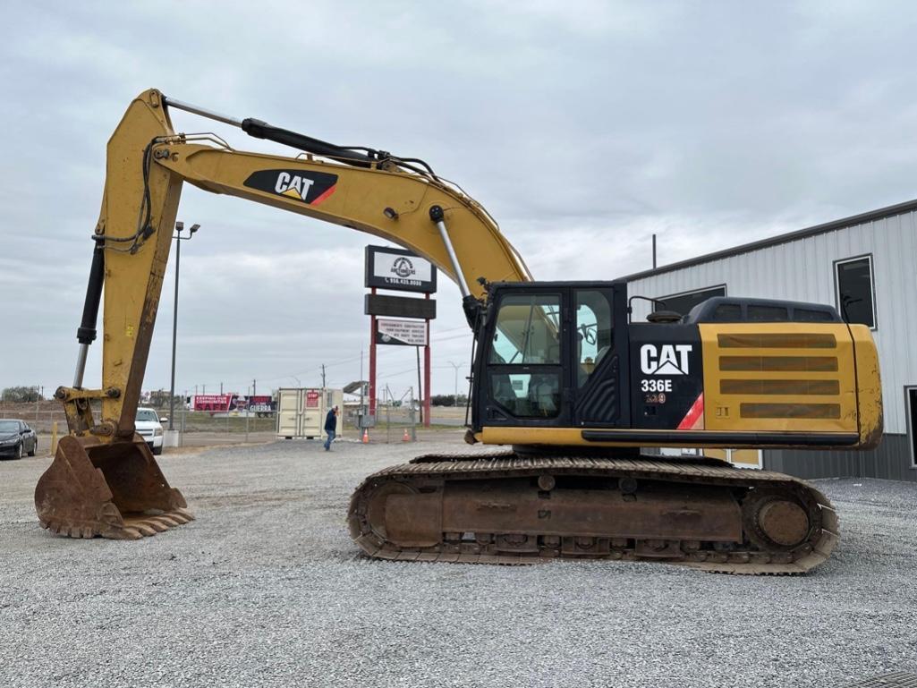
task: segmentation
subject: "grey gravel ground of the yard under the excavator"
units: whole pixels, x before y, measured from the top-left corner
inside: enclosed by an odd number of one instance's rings
[[[0,463],[0,686],[785,687],[917,671],[913,483],[819,481],[843,538],[806,577],[368,560],[349,494],[413,449],[160,457],[198,520],[136,542],[50,536],[31,504],[49,460]]]

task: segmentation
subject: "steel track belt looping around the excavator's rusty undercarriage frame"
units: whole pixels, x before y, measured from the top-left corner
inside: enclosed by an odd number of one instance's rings
[[[699,552],[686,554],[690,560],[665,560],[637,556],[631,550],[612,551],[608,555],[569,555],[558,557],[556,551],[543,556],[532,554],[488,553],[481,547],[462,543],[440,543],[433,548],[398,548],[383,541],[370,530],[366,519],[366,504],[370,494],[381,483],[389,481],[413,483],[425,478],[453,480],[481,480],[519,478],[551,475],[585,475],[594,477],[634,477],[637,480],[654,480],[671,483],[699,485],[727,485],[734,487],[796,488],[817,505],[821,512],[821,529],[813,532],[810,540],[792,553],[736,551],[729,553]],[[553,559],[620,559],[646,560],[673,563],[712,573],[744,575],[798,575],[828,559],[839,538],[838,518],[828,498],[809,483],[779,472],[737,469],[725,461],[702,459],[665,460],[652,456],[639,459],[606,459],[579,457],[521,458],[514,453],[491,455],[456,454],[425,455],[410,463],[392,466],[375,472],[360,484],[350,500],[348,512],[351,534],[370,557],[388,560],[453,561],[466,563],[533,564]],[[475,551],[477,549],[477,551]]]

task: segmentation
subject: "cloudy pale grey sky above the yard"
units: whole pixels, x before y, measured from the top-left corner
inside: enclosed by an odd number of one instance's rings
[[[71,384],[105,142],[149,87],[430,162],[536,279],[613,279],[911,200],[917,7],[830,2],[6,3],[0,387]],[[236,149],[295,155],[187,113]],[[190,185],[176,390],[360,377],[378,239]],[[173,257],[144,388],[168,389]],[[753,294],[748,294],[753,295]],[[433,393],[471,337],[440,280]],[[100,322],[101,325],[101,322]],[[458,370],[458,374],[457,371]],[[364,372],[365,375],[365,372]],[[92,347],[87,386],[101,377]],[[457,382],[458,381],[458,382]],[[416,388],[414,350],[379,382]]]

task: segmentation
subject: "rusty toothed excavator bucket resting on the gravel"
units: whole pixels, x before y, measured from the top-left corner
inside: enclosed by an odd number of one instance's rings
[[[42,527],[71,538],[138,539],[193,520],[147,443],[61,438],[35,487]]]

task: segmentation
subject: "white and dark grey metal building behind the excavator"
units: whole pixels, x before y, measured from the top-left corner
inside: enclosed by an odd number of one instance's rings
[[[874,451],[764,452],[764,468],[803,478],[917,481],[917,200],[637,272],[631,295],[687,313],[716,295],[832,304],[872,328],[885,436]],[[634,301],[634,320],[649,304]]]

